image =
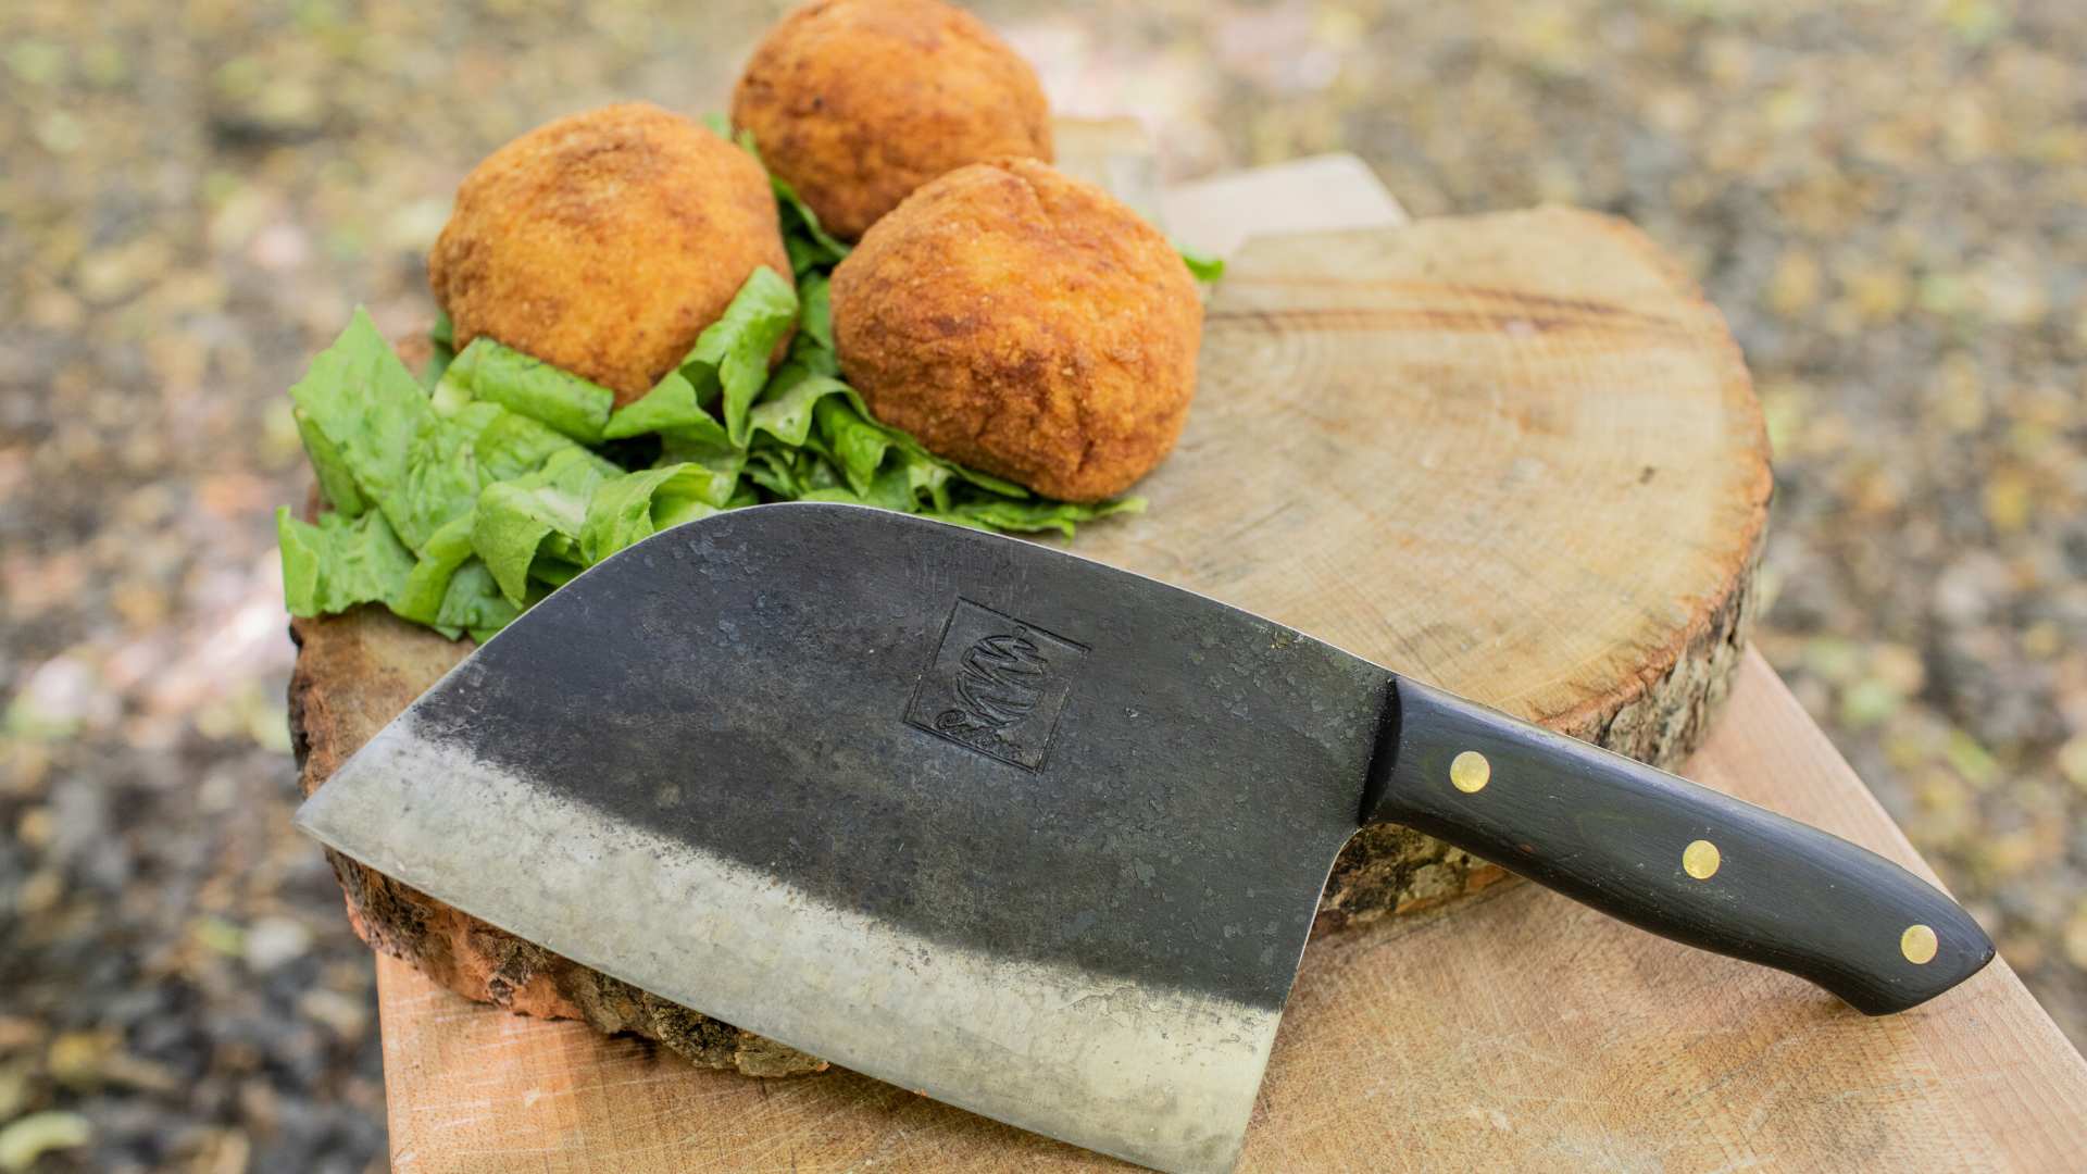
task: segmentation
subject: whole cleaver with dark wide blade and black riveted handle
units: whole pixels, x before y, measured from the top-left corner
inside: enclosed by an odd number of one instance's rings
[[[1993,944],[1845,840],[1027,541],[733,510],[586,570],[296,823],[639,988],[1225,1174],[1334,854],[1394,821],[1889,1015]]]

